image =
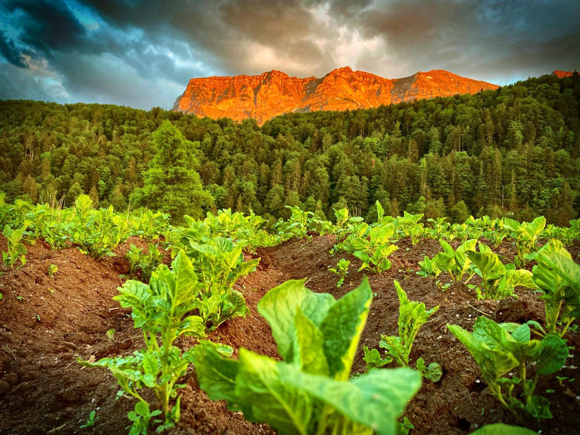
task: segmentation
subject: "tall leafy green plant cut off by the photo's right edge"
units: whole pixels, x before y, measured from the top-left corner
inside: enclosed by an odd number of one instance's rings
[[[532,280],[546,306],[546,329],[549,333],[563,336],[568,327],[580,317],[580,266],[572,260],[561,241],[552,239],[538,252],[528,258],[538,264],[532,269]],[[564,312],[560,321],[564,327],[559,330],[560,311]]]

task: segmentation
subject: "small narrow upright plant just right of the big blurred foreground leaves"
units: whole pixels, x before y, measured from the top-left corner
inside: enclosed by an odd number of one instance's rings
[[[394,361],[402,366],[409,366],[409,354],[419,328],[439,309],[439,306],[427,310],[424,303],[413,302],[397,280],[394,281],[399,298],[398,336],[380,336],[379,346],[386,349]]]

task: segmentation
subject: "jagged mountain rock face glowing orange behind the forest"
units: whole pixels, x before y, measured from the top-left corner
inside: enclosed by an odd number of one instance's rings
[[[353,110],[408,100],[476,93],[498,85],[460,77],[444,70],[387,79],[353,71],[332,70],[322,78],[290,77],[272,70],[260,75],[193,78],[177,97],[173,110],[200,117],[255,118],[258,124],[289,112]]]

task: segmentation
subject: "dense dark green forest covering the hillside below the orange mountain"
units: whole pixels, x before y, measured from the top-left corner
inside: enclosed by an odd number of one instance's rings
[[[175,128],[165,124],[154,140],[165,120]],[[565,225],[580,211],[577,73],[477,95],[287,114],[261,127],[160,108],[3,101],[0,190],[7,201],[66,195],[72,205],[86,193],[118,210],[164,209],[144,181],[166,180],[160,150],[171,141],[201,195],[193,210],[182,201],[190,214],[231,208],[288,218],[284,206],[301,205],[330,218],[344,206],[367,215],[380,200],[392,215],[545,215]]]

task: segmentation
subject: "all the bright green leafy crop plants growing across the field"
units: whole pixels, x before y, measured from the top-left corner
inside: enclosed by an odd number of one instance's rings
[[[0,223],[8,241],[3,262],[8,268],[19,266],[17,262],[24,266],[26,244],[37,239],[53,248],[78,247],[95,259],[114,255],[115,247],[132,236],[148,242],[146,252],[132,245],[126,253],[131,279],[114,298],[132,310],[144,347],[130,356],[79,360],[110,369],[122,393],[135,397],[135,409],[128,414],[131,435],[175,426],[180,419],[177,382],[192,363],[210,398],[226,400],[249,421],[267,422],[281,433],[393,434],[408,433],[411,423],[405,419],[401,425],[397,420],[422,379],[437,382],[441,377],[437,362],[427,364],[418,358],[412,369],[409,361],[421,325],[438,307],[427,309],[408,300],[397,281],[398,335],[381,336],[383,354],[364,347],[365,374],[351,376],[372,301],[366,279],[338,301],[327,293],[311,292],[304,281],[271,289],[258,311],[269,322],[283,361],[245,349],[232,358],[234,349],[205,338],[223,322],[248,313],[244,295],[234,284],[255,270],[260,259],[247,258],[255,256],[258,247],[291,237],[333,234],[333,254],[350,254],[360,262],[360,271],[376,274],[390,269],[389,255],[398,249],[395,243],[400,238],[409,237],[412,244],[433,238],[440,241],[442,251],[419,262],[421,276],[437,279],[443,273],[452,281],[466,277],[478,298],[506,298],[518,286],[540,292],[545,327],[535,321],[496,324],[479,317],[473,332],[457,325],[449,325],[449,331],[473,355],[492,394],[522,425],[530,426],[533,420],[539,426],[552,416],[548,399],[536,394],[535,386],[538,376],[563,367],[568,357],[564,335],[580,313],[580,266],[565,249],[580,236],[579,220],[560,228],[546,226],[542,217],[519,223],[484,216],[463,224],[429,219],[426,226],[420,222],[423,215],[385,216],[377,202],[375,222],[350,216],[347,209],[335,211],[335,222],[329,222],[289,208],[291,218],[280,220],[270,231],[264,230],[266,221],[259,216],[229,210],[208,213],[204,220],[185,216],[187,226],[174,227],[168,215],[158,212],[94,209],[86,195],[79,195],[75,206],[67,209],[24,201],[4,204],[0,195]],[[538,249],[542,238],[549,242]],[[454,240],[462,242],[455,249],[449,243]],[[498,247],[503,241],[517,247],[513,263],[505,263],[489,246]],[[160,249],[171,252],[171,267],[162,264]],[[530,261],[535,262],[531,271],[518,269]],[[350,264],[340,259],[331,269],[339,276],[337,285],[343,284]],[[469,284],[475,276],[480,284]],[[179,336],[193,336],[199,344],[183,351],[174,344]],[[400,368],[378,369],[392,363]],[[535,368],[531,377],[528,366]],[[513,371],[516,374],[510,375]],[[152,389],[158,404],[148,403],[142,389]],[[481,433],[494,430],[501,433],[505,428],[488,426]]]

